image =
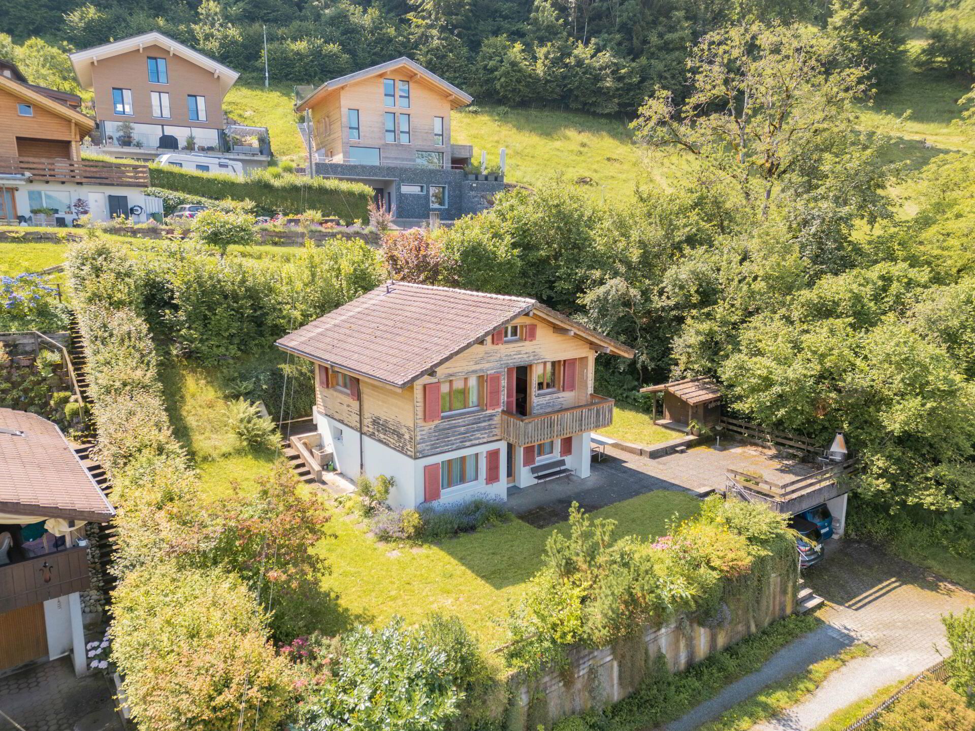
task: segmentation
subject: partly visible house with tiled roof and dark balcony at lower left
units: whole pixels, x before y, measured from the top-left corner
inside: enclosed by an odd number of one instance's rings
[[[87,672],[84,525],[114,514],[55,424],[0,408],[0,673],[67,654]]]

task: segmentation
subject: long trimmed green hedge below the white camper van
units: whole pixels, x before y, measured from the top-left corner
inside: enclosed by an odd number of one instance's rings
[[[368,220],[366,207],[372,190],[362,183],[327,177],[257,171],[240,178],[222,173],[197,173],[168,165],[150,165],[149,182],[155,188],[203,196],[254,202],[257,215],[321,211],[345,221]]]

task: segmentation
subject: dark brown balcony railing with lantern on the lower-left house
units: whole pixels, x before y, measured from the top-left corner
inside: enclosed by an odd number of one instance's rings
[[[0,566],[0,614],[91,587],[88,550],[71,548]]]

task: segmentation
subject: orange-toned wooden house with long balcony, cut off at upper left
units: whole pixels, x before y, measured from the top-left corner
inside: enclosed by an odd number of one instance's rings
[[[95,220],[138,221],[150,209],[162,211],[159,199],[144,195],[146,166],[81,159],[80,140],[95,122],[78,111],[80,103],[28,84],[14,64],[0,61],[0,222],[70,225],[85,208]],[[54,213],[32,212],[39,209]]]

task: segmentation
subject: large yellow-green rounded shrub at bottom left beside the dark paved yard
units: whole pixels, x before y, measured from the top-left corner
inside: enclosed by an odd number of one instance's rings
[[[266,640],[267,617],[218,569],[149,563],[113,595],[112,661],[133,718],[154,731],[277,729],[294,680]]]

